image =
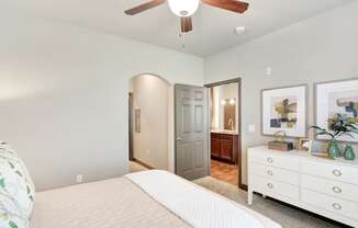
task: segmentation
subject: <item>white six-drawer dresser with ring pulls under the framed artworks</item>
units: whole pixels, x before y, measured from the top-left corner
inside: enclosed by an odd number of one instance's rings
[[[248,204],[261,193],[333,220],[358,227],[358,161],[306,152],[248,149]]]

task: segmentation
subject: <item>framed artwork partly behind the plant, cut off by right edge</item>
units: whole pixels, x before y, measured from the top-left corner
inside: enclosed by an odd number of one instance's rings
[[[328,119],[337,118],[338,114],[358,126],[358,78],[317,82],[314,87],[315,125],[329,129]],[[320,135],[317,140],[329,140],[328,136]],[[337,141],[358,144],[358,135],[340,136]]]

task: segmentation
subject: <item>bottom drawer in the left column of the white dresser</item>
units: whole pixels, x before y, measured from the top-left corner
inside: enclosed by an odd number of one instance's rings
[[[254,189],[260,190],[262,191],[261,193],[267,195],[270,193],[276,193],[293,200],[299,200],[300,196],[300,189],[298,186],[255,174],[253,175],[253,185]]]

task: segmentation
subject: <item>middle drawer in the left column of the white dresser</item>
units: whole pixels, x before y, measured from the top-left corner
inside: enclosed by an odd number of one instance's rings
[[[294,171],[283,170],[275,167],[269,167],[259,163],[251,163],[253,173],[262,178],[272,179],[275,181],[284,182],[288,184],[300,184],[300,174]]]

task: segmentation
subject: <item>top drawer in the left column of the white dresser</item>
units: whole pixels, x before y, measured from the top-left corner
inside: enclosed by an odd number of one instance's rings
[[[300,171],[300,160],[294,157],[283,157],[265,152],[253,152],[253,155],[249,156],[254,162],[292,171]]]

